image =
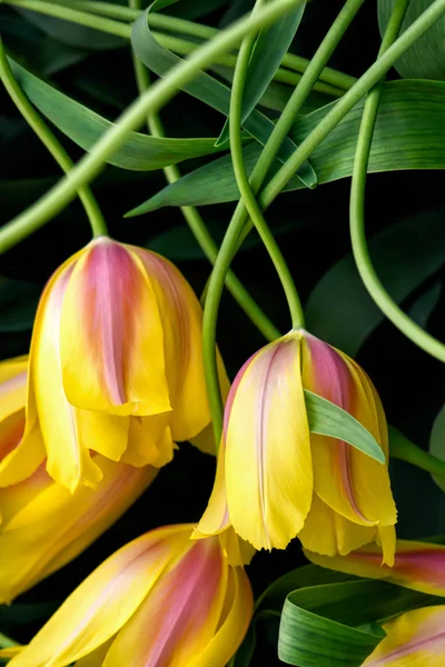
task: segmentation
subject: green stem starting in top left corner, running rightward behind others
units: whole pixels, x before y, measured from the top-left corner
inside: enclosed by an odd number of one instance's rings
[[[93,4],[92,2],[85,2],[85,0],[78,0],[75,2],[69,2],[68,0],[6,0],[4,3],[11,4],[12,7],[21,7],[22,9],[28,9],[30,11],[43,13],[46,16],[56,17],[58,19],[71,21],[73,23],[78,23],[79,26],[85,26],[86,28],[91,28],[93,30],[107,32],[108,34],[121,37],[126,40],[129,40],[131,38],[131,26],[122,23],[119,20],[113,20],[111,18],[102,18],[101,16],[95,16],[92,11],[81,11],[80,9],[89,9],[89,6]],[[116,9],[121,10],[128,8],[116,6]],[[112,13],[113,16],[118,17],[120,12],[116,11]],[[138,11],[137,13],[139,16],[140,11]],[[152,18],[157,17],[162,17],[164,19],[167,18],[167,16],[165,14],[158,14],[154,12],[150,17],[150,23],[158,23],[158,21],[155,20],[154,22],[151,20]],[[162,21],[162,24],[165,24],[165,21]],[[176,23],[174,22],[174,26],[175,24]],[[174,27],[171,27],[170,29],[172,30]],[[199,32],[199,30],[197,30],[196,32]],[[218,31],[215,31],[215,33],[217,34]],[[170,51],[179,53],[180,56],[192,53],[199,47],[198,42],[188,41],[179,37],[162,34],[156,31],[154,31],[152,34],[162,47],[165,47],[166,49],[170,49]],[[202,36],[200,34],[199,37]],[[234,68],[236,64],[236,56],[221,54],[217,57],[214,62],[215,64],[222,64],[225,67]],[[276,81],[286,83],[288,86],[296,86],[300,78],[300,73],[296,73],[295,71],[290,71],[289,69],[283,67],[279,68],[274,76],[274,79]],[[335,87],[323,81],[317,82],[314,89],[318,92],[324,92],[333,97],[340,97],[342,94],[344,94],[343,88]]]

